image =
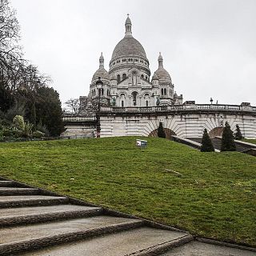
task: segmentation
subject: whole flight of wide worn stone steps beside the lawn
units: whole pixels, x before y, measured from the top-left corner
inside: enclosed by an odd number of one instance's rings
[[[0,255],[256,254],[235,247],[194,242],[192,235],[170,226],[0,178]]]

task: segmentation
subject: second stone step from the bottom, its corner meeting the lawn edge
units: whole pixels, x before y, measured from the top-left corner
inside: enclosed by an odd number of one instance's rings
[[[22,255],[26,256],[124,256],[124,255],[158,255],[166,246],[177,242],[190,242],[192,236],[170,230],[158,230],[141,227],[116,234],[71,242],[64,245],[48,247]]]

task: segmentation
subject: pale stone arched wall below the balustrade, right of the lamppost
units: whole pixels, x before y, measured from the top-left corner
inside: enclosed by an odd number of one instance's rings
[[[256,118],[243,114],[165,114],[165,115],[108,115],[101,118],[101,137],[148,136],[158,129],[159,122],[164,128],[183,138],[202,137],[208,131],[229,122],[231,130],[238,124],[246,138],[256,138]]]

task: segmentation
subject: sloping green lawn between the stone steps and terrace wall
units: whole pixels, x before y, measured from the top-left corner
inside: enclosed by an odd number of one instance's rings
[[[256,246],[255,157],[146,139],[146,150],[131,137],[0,143],[0,175]]]

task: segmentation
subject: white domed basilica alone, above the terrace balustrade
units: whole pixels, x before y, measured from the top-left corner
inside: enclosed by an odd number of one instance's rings
[[[93,75],[88,97],[80,97],[86,102],[86,109],[101,98],[102,106],[170,106],[182,104],[182,95],[176,94],[170,74],[163,67],[163,58],[158,56],[158,70],[150,78],[150,62],[138,40],[133,37],[129,15],[125,22],[125,36],[114,47],[109,70],[104,67],[104,58],[99,58],[99,68]],[[101,90],[96,82],[101,79]],[[100,94],[100,95],[99,95]]]

